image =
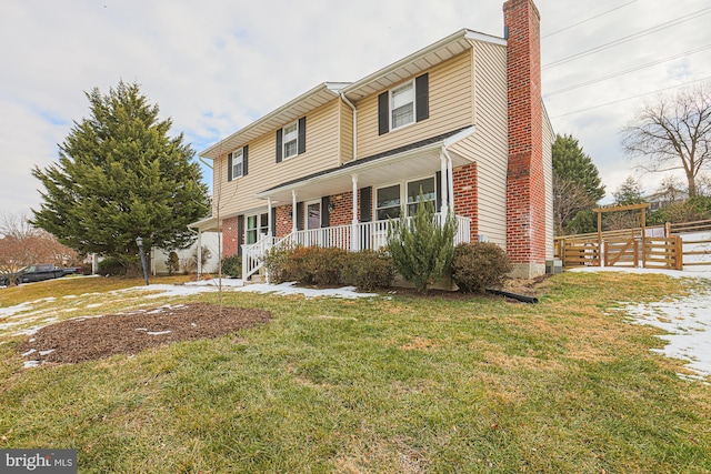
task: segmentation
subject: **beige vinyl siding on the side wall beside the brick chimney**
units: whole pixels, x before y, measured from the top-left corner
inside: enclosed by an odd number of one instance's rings
[[[499,44],[473,43],[474,133],[459,148],[479,163],[479,234],[507,243],[507,51]],[[453,149],[457,149],[453,147]]]

